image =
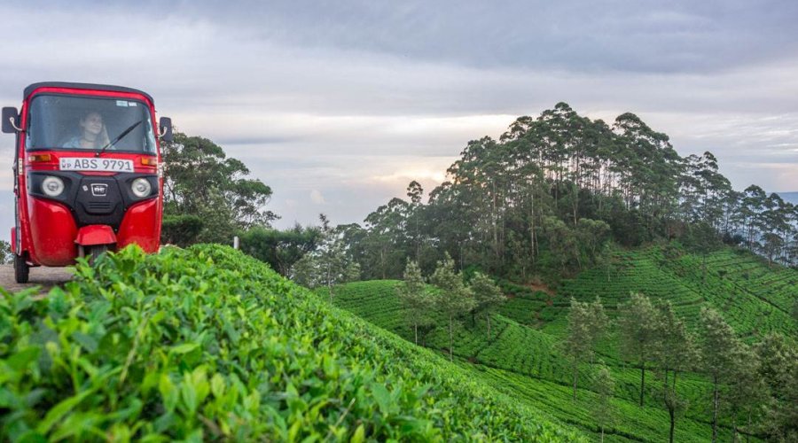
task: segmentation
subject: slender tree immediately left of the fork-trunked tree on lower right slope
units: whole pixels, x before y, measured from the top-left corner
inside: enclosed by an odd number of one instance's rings
[[[643,294],[632,293],[630,301],[621,307],[621,352],[627,360],[640,365],[640,406],[645,392],[645,366],[654,357],[657,347],[660,318],[651,300]]]

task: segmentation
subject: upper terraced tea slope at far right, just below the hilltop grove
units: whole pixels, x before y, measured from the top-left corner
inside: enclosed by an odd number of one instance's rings
[[[794,269],[768,268],[761,258],[731,249],[708,254],[706,272],[702,257],[685,254],[666,259],[660,248],[620,253],[617,263],[609,277],[593,269],[565,281],[549,313],[552,321],[543,330],[556,336],[563,332],[571,297],[590,301],[599,296],[612,316],[618,304],[635,291],[653,300],[668,299],[692,326],[701,307],[714,307],[747,341],[774,331],[798,333],[798,323],[790,315],[798,299]]]

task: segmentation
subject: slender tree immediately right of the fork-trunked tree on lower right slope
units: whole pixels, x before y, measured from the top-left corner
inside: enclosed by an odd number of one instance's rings
[[[734,330],[715,309],[703,307],[700,313],[700,353],[703,371],[712,379],[712,441],[717,440],[717,414],[720,387],[732,373],[734,353],[740,346]]]

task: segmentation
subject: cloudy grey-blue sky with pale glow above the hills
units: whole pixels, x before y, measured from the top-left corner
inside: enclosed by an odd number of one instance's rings
[[[798,190],[798,2],[0,0],[0,104],[43,81],[144,89],[273,190],[275,223],[362,222],[469,140],[558,102],[636,113],[732,185]],[[0,137],[0,226],[13,224]],[[9,229],[0,230],[0,238]]]

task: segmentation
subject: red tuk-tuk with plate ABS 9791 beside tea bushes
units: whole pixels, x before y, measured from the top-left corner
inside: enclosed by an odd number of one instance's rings
[[[43,82],[25,89],[22,109],[3,108],[16,134],[12,228],[14,274],[67,266],[137,244],[158,250],[163,214],[160,139],[153,97],[119,86]],[[156,131],[157,128],[157,131]]]

